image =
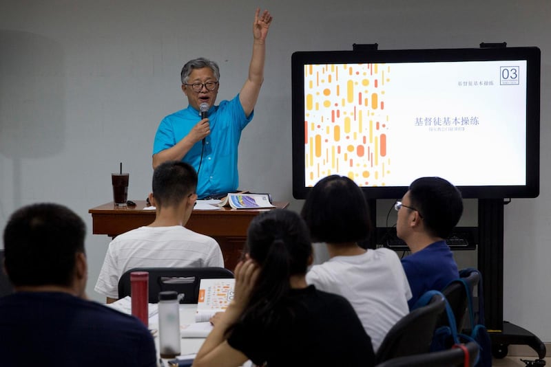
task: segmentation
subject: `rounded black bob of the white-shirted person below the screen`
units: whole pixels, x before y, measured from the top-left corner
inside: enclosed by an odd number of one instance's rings
[[[365,241],[371,234],[369,205],[362,189],[349,177],[324,177],[309,192],[302,218],[314,242]]]

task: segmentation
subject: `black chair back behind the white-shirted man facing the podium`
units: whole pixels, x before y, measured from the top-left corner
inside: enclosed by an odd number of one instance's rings
[[[135,267],[125,271],[118,280],[118,299],[130,296],[130,273],[149,273],[149,303],[158,303],[160,291],[177,291],[180,303],[197,303],[200,280],[203,278],[233,278],[233,273],[223,267]]]

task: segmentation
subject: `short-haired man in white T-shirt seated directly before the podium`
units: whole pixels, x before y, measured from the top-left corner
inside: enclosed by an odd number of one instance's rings
[[[197,200],[197,173],[185,162],[160,164],[153,173],[149,201],[156,207],[155,221],[116,236],[105,254],[94,290],[118,299],[118,280],[134,267],[224,267],[214,238],[188,230]]]

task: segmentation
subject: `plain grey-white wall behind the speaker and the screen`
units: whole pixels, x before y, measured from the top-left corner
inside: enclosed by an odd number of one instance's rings
[[[0,227],[21,205],[54,201],[80,214],[112,199],[123,162],[129,198],[149,192],[152,141],[185,107],[179,73],[206,56],[220,64],[219,100],[245,81],[256,6],[274,21],[256,118],[242,135],[240,187],[291,194],[291,54],[302,50],[478,47],[506,41],[542,54],[541,194],[505,209],[504,319],[551,342],[548,0],[3,0],[0,5]],[[323,4],[323,5],[322,5]],[[476,213],[471,210],[467,215]],[[467,221],[472,219],[466,218]],[[88,292],[107,236],[87,236]]]

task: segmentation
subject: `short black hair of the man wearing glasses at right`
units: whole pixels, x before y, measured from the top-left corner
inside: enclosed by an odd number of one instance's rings
[[[448,238],[463,214],[461,192],[441,177],[421,177],[409,186],[411,206],[433,236]]]

